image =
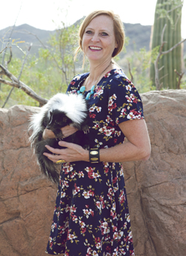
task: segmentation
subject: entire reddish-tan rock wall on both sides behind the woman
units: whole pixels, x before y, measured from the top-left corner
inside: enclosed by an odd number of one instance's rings
[[[186,252],[186,91],[141,95],[152,154],[124,163],[136,256]],[[56,185],[41,175],[28,143],[37,107],[0,109],[0,255],[44,256]]]

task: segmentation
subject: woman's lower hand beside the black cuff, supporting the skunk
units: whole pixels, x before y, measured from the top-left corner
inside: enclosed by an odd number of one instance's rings
[[[43,153],[48,159],[56,163],[58,160],[65,160],[65,162],[87,161],[89,162],[89,151],[83,149],[81,146],[74,143],[67,143],[60,141],[59,145],[66,149],[54,149],[51,146],[45,147],[53,154]]]

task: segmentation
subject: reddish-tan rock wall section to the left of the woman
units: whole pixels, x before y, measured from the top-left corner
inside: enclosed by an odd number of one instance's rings
[[[56,185],[41,175],[28,143],[36,107],[0,110],[0,255],[44,256]]]

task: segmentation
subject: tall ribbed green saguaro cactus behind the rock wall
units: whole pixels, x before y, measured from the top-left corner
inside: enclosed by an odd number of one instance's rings
[[[169,50],[182,40],[181,16],[182,1],[157,0],[151,49],[161,46],[161,34],[165,24],[167,24],[164,31],[164,41],[166,43],[164,44],[163,51]],[[158,69],[161,87],[176,89],[177,75],[174,70],[182,72],[182,46],[178,46],[173,51],[170,51],[170,53],[162,56],[158,62]],[[153,63],[150,68],[150,78],[153,84],[155,84],[155,68]]]

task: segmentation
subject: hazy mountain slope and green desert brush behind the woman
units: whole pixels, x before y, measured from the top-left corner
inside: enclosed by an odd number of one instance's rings
[[[77,47],[77,30],[80,21],[75,25],[57,31],[45,31],[33,28],[30,25],[20,25],[14,28],[11,40],[17,42],[12,47],[12,59],[8,64],[8,70],[19,77],[28,87],[31,87],[39,96],[49,99],[55,93],[65,93],[68,83],[74,75],[87,72],[89,65],[82,69],[82,56],[74,63],[74,49]],[[150,81],[150,62],[152,52],[150,51],[151,26],[124,23],[126,32],[126,46],[124,51],[115,58],[116,62],[132,80],[140,93],[155,90],[155,84]],[[2,43],[7,42],[10,37],[11,28],[0,31]],[[10,42],[11,42],[10,40]],[[2,44],[0,42],[0,49]],[[32,43],[32,46],[31,46]],[[30,51],[28,48],[31,46]],[[186,45],[185,45],[186,50]],[[29,54],[28,54],[29,53]],[[27,60],[22,66],[26,54]],[[153,53],[157,54],[157,51]],[[10,58],[10,50],[7,49],[5,60]],[[0,63],[3,54],[0,54]],[[185,88],[185,85],[182,87]],[[7,84],[0,84],[0,107],[10,107],[14,104],[28,104],[38,106],[39,103],[31,99],[27,94],[15,88],[11,91]],[[9,95],[9,99],[4,104]]]

